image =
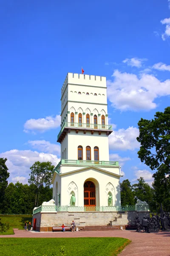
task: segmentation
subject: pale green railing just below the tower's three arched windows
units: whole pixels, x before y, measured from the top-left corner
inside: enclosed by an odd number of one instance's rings
[[[54,172],[59,169],[61,164],[71,164],[71,165],[88,165],[88,166],[119,166],[118,161],[94,161],[94,160],[69,160],[62,159],[54,169]],[[58,172],[59,173],[59,172]]]

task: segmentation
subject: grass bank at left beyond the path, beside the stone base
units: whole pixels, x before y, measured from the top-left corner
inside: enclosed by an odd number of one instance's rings
[[[0,235],[13,235],[12,228],[23,229],[25,221],[31,221],[32,215],[0,215],[0,222],[9,223],[10,229],[7,232],[0,233]]]

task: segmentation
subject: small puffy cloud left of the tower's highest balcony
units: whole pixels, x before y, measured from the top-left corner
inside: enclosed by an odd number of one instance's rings
[[[40,131],[44,132],[50,129],[54,129],[60,126],[61,117],[56,116],[46,116],[45,118],[39,119],[29,119],[24,124],[24,132],[28,131]]]

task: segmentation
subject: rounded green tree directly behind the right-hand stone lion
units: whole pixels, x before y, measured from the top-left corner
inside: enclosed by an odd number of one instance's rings
[[[133,193],[141,201],[146,201],[150,204],[153,200],[153,190],[148,183],[144,181],[143,177],[140,177],[138,183],[133,184]]]

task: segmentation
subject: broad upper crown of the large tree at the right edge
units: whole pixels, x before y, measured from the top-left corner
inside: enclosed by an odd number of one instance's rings
[[[170,174],[170,107],[164,112],[156,112],[155,118],[141,118],[138,122],[141,143],[138,156],[151,170],[161,168]]]

